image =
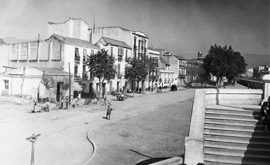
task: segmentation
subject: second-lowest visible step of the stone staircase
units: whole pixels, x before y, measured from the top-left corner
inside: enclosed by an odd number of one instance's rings
[[[270,158],[270,151],[232,150],[224,148],[205,147],[205,153],[227,156]]]

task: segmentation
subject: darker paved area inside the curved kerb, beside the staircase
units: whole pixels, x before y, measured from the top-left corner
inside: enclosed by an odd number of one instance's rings
[[[145,164],[184,154],[192,102],[177,102],[98,126],[89,132],[97,146],[89,164]]]

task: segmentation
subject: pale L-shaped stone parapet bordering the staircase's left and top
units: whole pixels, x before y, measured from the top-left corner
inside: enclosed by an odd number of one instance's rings
[[[258,105],[262,89],[197,89],[194,95],[189,135],[185,138],[185,164],[204,162],[205,108],[210,105]]]

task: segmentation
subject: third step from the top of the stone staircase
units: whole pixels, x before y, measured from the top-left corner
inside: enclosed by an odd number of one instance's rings
[[[206,118],[205,123],[213,123],[213,124],[226,123],[226,125],[264,126],[262,121],[243,121],[243,120],[227,120],[227,119],[211,119],[211,118]]]

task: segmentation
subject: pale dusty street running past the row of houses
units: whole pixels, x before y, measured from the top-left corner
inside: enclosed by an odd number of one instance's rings
[[[154,112],[158,107],[176,104],[193,96],[194,89],[187,89],[142,95],[128,98],[124,102],[112,101],[114,108],[112,121],[120,121],[127,116],[136,116],[140,113],[143,115],[150,110]],[[83,164],[92,152],[86,138],[87,131],[111,122],[102,118],[106,115],[106,107],[101,103],[78,106],[77,109],[71,108],[67,111],[54,110],[35,114],[28,113],[32,109],[31,104],[14,102],[0,102],[0,104],[1,164],[28,164],[31,144],[25,138],[31,134],[41,134],[35,145],[35,164]]]

